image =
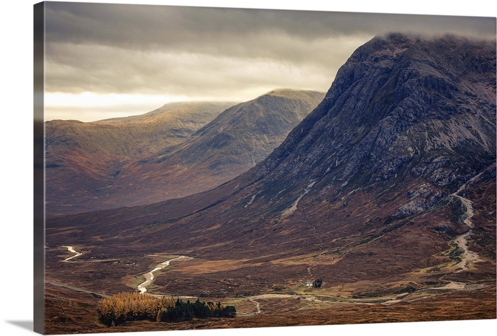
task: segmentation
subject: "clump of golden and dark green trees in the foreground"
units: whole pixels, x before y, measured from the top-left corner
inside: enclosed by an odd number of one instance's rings
[[[157,322],[181,322],[194,318],[208,317],[233,318],[237,312],[234,306],[223,306],[220,302],[183,302],[179,298],[156,298],[137,292],[120,293],[100,301],[97,312],[100,321],[108,327],[117,326],[125,321],[149,320]]]

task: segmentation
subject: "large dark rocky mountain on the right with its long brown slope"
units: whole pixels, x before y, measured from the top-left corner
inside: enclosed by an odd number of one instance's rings
[[[391,34],[358,48],[246,173],[181,199],[48,221],[47,243],[238,258],[254,276],[270,268],[331,287],[495,285],[495,190],[495,41]]]

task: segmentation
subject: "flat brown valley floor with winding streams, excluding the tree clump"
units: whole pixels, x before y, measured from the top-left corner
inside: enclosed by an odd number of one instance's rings
[[[325,282],[322,288],[313,288],[297,280],[286,284],[264,283],[257,289],[250,281],[244,285],[227,278],[216,280],[226,291],[209,293],[212,283],[197,281],[199,273],[204,279],[211,275],[215,279],[213,267],[218,265],[226,274],[234,276],[237,271],[247,271],[243,266],[246,260],[213,262],[154,254],[129,260],[78,261],[81,253],[69,246],[46,249],[47,334],[496,319],[495,281],[446,280],[420,287],[425,276],[425,270],[420,270],[409,275],[407,280],[410,281],[392,281],[388,285],[362,281],[330,286]],[[150,274],[155,275],[152,276],[154,282],[149,281]],[[188,283],[186,274],[191,274],[197,282]],[[137,290],[139,286],[144,292],[144,279],[148,281],[145,285],[148,293],[169,293],[184,300],[199,297],[202,301],[221,301],[234,305],[238,316],[181,323],[126,322],[112,328],[98,321],[96,309],[101,298]],[[181,282],[186,284],[181,286]],[[230,291],[233,288],[237,295]]]

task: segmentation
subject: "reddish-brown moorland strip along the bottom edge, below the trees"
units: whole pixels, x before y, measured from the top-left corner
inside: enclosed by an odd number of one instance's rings
[[[358,323],[455,321],[496,318],[496,287],[457,291],[396,305],[327,303],[297,298],[257,298],[261,313],[235,319],[207,319],[181,323],[126,322],[107,328],[96,316],[94,295],[46,286],[46,333],[108,333],[161,330],[258,328]],[[247,301],[237,309],[250,310]],[[252,310],[254,305],[252,306]],[[68,313],[71,311],[71,313]]]

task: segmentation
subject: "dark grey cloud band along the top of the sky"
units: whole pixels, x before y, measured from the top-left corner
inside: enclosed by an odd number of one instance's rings
[[[203,8],[133,4],[49,3],[47,33],[60,42],[138,48],[195,47],[259,34],[320,39],[333,34],[453,32],[495,35],[494,18]]]

